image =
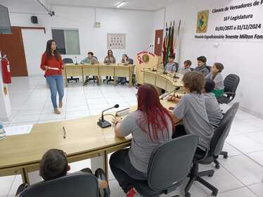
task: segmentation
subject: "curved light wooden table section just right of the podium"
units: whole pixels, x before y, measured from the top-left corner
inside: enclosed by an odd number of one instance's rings
[[[176,87],[184,87],[181,82],[184,75],[177,73],[179,79],[173,79],[169,77],[169,74],[164,75],[162,73],[154,72],[152,70],[142,70],[143,72],[143,83],[152,84],[159,89],[165,89],[165,91],[173,91]]]

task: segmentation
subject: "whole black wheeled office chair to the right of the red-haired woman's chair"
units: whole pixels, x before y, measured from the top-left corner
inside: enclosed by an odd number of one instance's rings
[[[231,124],[238,110],[238,106],[239,103],[233,104],[233,106],[224,114],[224,117],[221,120],[219,127],[214,131],[214,136],[212,137],[210,143],[210,151],[200,151],[199,148],[198,151],[196,151],[195,157],[193,159],[191,173],[189,174],[190,180],[188,181],[188,184],[185,188],[186,197],[191,196],[189,190],[191,189],[191,186],[195,181],[198,181],[200,184],[203,184],[208,189],[210,189],[212,191],[213,196],[217,196],[218,189],[201,178],[205,176],[212,177],[214,175],[214,170],[198,172],[199,164],[209,165],[210,163],[213,163],[214,159],[217,158],[220,155],[220,153],[222,153],[224,141],[229,135]]]

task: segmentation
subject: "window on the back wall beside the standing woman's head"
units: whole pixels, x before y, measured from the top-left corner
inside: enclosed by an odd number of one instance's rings
[[[52,29],[60,54],[79,55],[79,30]]]

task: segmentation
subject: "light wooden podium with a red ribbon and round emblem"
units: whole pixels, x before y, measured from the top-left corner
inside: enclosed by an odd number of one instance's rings
[[[156,56],[153,53],[148,51],[141,51],[135,56],[135,65],[136,65],[136,79],[137,84],[143,84],[143,72],[144,69],[153,69],[158,68],[158,65],[161,63],[161,57]]]

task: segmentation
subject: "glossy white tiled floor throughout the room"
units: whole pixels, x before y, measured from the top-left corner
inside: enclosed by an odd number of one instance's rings
[[[120,104],[126,108],[136,104],[136,89],[127,86],[101,87],[89,84],[86,87],[70,84],[65,89],[64,107],[61,115],[54,115],[49,98],[49,90],[43,77],[14,77],[9,87],[13,115],[8,125],[23,125],[65,120],[88,115],[97,115],[101,110]],[[228,106],[223,106],[224,109]],[[205,177],[219,189],[220,197],[262,197],[263,196],[263,120],[241,110],[238,111],[224,150],[229,152],[227,160],[220,159],[221,168],[214,177]],[[90,160],[72,163],[71,172],[90,166]],[[214,169],[214,165],[201,166],[201,169]],[[37,172],[32,174],[36,176]],[[113,197],[125,196],[113,174],[110,172],[110,189]],[[186,180],[187,181],[187,180]],[[0,177],[0,197],[14,196],[22,183],[20,176]],[[186,182],[184,183],[184,185]],[[167,196],[181,194],[184,185]],[[191,188],[194,197],[210,196],[204,186],[195,183]]]

